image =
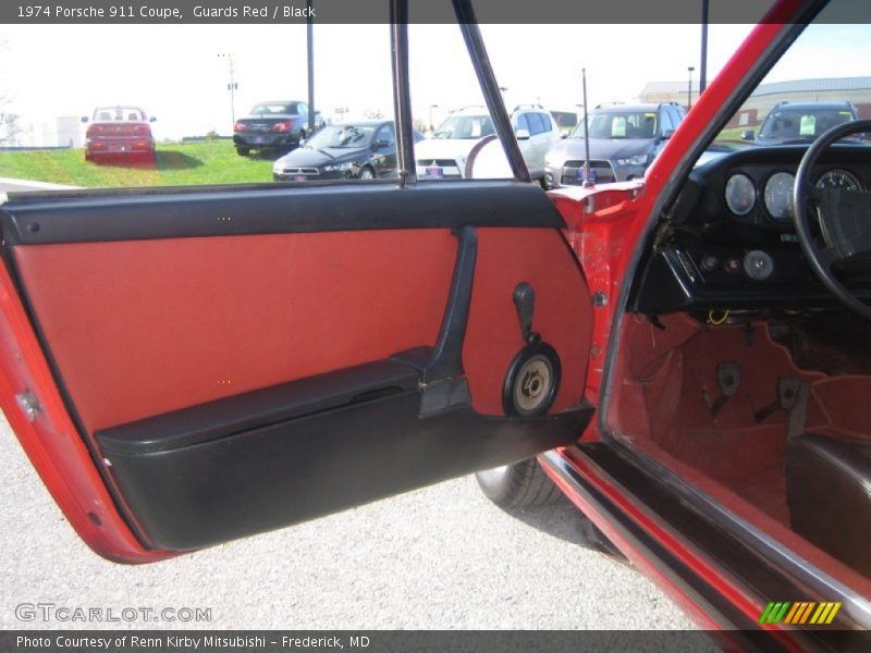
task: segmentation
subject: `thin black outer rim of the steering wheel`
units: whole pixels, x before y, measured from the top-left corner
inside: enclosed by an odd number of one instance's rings
[[[805,152],[793,188],[793,225],[814,274],[849,310],[871,321],[871,306],[856,297],[832,272],[832,266],[848,258],[849,254],[845,247],[845,234],[837,227],[841,218],[837,208],[839,196],[835,196],[834,200],[826,197],[825,190],[818,189],[811,178],[817,161],[833,143],[859,132],[871,132],[871,120],[835,125],[821,134]],[[813,215],[819,222],[824,247],[819,247],[813,238],[809,223]]]

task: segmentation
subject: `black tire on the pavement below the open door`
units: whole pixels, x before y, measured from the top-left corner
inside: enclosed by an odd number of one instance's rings
[[[563,497],[536,458],[479,471],[475,478],[484,495],[505,508],[548,506]]]

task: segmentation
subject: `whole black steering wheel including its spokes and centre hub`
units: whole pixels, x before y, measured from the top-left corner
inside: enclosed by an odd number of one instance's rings
[[[801,249],[820,281],[852,312],[871,321],[871,306],[848,291],[832,271],[845,264],[857,271],[871,271],[871,193],[818,188],[811,180],[823,151],[836,140],[859,132],[871,132],[871,120],[836,125],[821,134],[805,152],[793,188],[793,223]],[[814,219],[820,239],[811,229]]]

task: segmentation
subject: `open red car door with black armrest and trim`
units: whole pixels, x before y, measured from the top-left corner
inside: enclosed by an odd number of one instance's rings
[[[515,461],[591,417],[590,294],[535,185],[40,193],[0,225],[3,410],[113,559]]]

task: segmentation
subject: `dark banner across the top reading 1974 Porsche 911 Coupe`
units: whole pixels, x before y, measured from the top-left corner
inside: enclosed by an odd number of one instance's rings
[[[812,2],[812,0],[808,0]],[[773,0],[715,0],[710,23],[758,23]],[[679,24],[701,21],[701,0],[475,0],[481,24]],[[377,24],[388,0],[4,0],[9,24]],[[871,23],[871,2],[838,0],[830,23]],[[450,0],[412,0],[410,23],[454,23]]]

